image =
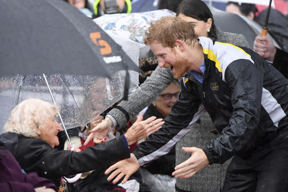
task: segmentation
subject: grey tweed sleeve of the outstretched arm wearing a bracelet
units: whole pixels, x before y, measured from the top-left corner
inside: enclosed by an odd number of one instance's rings
[[[151,76],[140,85],[136,91],[128,95],[128,101],[122,101],[117,106],[122,110],[113,108],[107,115],[111,115],[118,122],[118,127],[122,128],[132,117],[138,114],[146,106],[152,103],[161,92],[174,80],[170,68],[160,68],[159,66],[152,72]],[[126,111],[129,118],[126,118]]]

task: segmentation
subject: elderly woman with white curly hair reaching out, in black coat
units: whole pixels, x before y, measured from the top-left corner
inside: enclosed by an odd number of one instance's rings
[[[58,108],[54,104],[27,99],[13,109],[4,127],[5,133],[0,135],[0,146],[15,156],[26,173],[35,171],[39,176],[51,179],[56,186],[60,185],[61,176],[95,170],[129,158],[128,146],[157,131],[164,123],[156,117],[145,121],[140,117],[123,136],[81,152],[58,151],[53,149],[59,145],[57,134],[62,130],[56,121],[57,114]]]

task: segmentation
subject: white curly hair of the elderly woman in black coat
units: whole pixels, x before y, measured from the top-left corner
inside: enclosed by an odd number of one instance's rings
[[[37,138],[36,128],[41,127],[47,118],[57,116],[58,111],[55,104],[41,99],[26,99],[12,110],[4,132]]]

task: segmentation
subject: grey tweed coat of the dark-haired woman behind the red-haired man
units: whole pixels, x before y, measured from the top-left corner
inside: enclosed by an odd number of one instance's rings
[[[217,38],[214,39],[214,41],[249,47],[243,35],[223,32],[217,27],[215,31]],[[129,119],[151,104],[174,79],[169,68],[160,68],[158,66],[155,71],[152,72],[151,76],[147,77],[146,81],[140,85],[140,89],[137,89],[137,91],[132,92],[128,96],[128,101],[122,101],[118,104],[118,108],[111,110],[107,116],[112,117],[112,119],[114,118],[113,124],[118,123],[119,128],[122,128]],[[129,119],[127,119],[128,116]],[[115,122],[115,120],[117,122]],[[201,148],[211,139],[217,137],[217,134],[214,134],[213,130],[215,130],[215,128],[212,120],[208,113],[205,112],[200,118],[200,122],[194,125],[183,139],[176,144],[176,165],[186,161],[191,156],[191,154],[183,152],[182,147],[193,146]],[[176,179],[176,190],[179,192],[220,191],[229,162],[228,160],[221,165],[208,165],[188,179]]]

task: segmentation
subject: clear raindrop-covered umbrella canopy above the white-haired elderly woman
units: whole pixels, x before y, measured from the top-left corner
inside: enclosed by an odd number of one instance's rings
[[[46,74],[46,79],[67,129],[87,124],[123,97],[125,76],[121,73],[109,79],[58,74]],[[136,87],[130,81],[129,91]],[[1,77],[0,133],[14,107],[29,98],[53,102],[43,75]]]

